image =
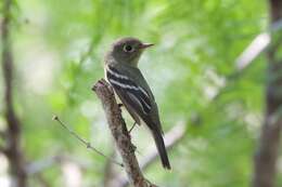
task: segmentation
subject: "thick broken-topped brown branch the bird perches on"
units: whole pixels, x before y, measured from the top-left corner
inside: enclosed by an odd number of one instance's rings
[[[92,89],[101,99],[108,126],[114,137],[118,152],[123,158],[129,183],[134,187],[155,187],[148,182],[134,156],[136,147],[130,141],[121,111],[116,103],[114,92],[105,80],[100,80]]]

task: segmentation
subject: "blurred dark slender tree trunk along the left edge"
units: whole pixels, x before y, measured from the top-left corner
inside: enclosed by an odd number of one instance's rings
[[[3,1],[3,22],[1,27],[2,40],[2,71],[4,80],[4,104],[5,120],[8,129],[5,132],[7,157],[9,159],[10,173],[15,187],[26,186],[26,172],[24,166],[24,157],[21,149],[21,123],[13,108],[13,55],[11,46],[11,19],[12,19],[12,0]]]

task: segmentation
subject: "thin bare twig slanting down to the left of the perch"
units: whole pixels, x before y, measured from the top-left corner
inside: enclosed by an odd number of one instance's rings
[[[113,163],[124,168],[124,164],[123,163],[119,163],[118,161],[107,157],[106,155],[104,155],[103,152],[101,152],[100,150],[98,150],[97,148],[94,148],[93,146],[91,146],[91,144],[89,142],[87,142],[86,139],[84,139],[82,137],[80,137],[78,134],[76,134],[72,129],[69,129],[66,124],[64,124],[60,118],[57,116],[54,116],[52,118],[54,121],[57,121],[59,124],[61,124],[65,130],[67,130],[69,132],[69,134],[72,134],[74,137],[76,137],[80,143],[82,143],[84,145],[86,145],[86,147],[88,149],[91,149],[93,150],[94,152],[97,152],[98,155],[106,158],[107,160],[111,160]]]

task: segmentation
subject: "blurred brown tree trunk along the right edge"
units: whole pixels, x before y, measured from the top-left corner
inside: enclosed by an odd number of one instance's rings
[[[272,26],[282,21],[282,1],[269,0]],[[268,82],[266,90],[266,115],[254,165],[254,187],[273,187],[275,184],[277,159],[282,129],[282,32],[271,34],[268,49]]]

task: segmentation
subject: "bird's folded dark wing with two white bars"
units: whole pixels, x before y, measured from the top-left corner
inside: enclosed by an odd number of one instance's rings
[[[144,118],[150,113],[152,108],[150,96],[137,82],[112,66],[106,68],[106,78],[121,102],[129,105],[127,109],[134,110],[129,111],[131,116],[132,112],[134,112],[141,118]]]

